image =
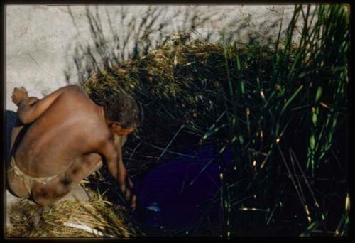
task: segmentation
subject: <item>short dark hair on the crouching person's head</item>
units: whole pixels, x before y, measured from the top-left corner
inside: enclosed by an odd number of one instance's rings
[[[115,93],[104,101],[104,111],[107,119],[117,121],[124,128],[138,128],[143,121],[143,109],[140,102],[131,95]]]

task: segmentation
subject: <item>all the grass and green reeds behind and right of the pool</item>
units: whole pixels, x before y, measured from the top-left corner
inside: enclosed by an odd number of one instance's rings
[[[111,92],[142,102],[126,148],[133,175],[189,146],[231,148],[232,163],[215,158],[221,236],[344,236],[348,55],[349,6],[295,6],[275,48],[178,33],[82,86],[98,103]]]

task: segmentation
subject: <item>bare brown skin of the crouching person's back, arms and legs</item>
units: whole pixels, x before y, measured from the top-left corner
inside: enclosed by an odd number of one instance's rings
[[[62,87],[43,99],[28,97],[24,88],[15,88],[12,99],[23,123],[11,134],[16,165],[31,177],[58,175],[46,185],[33,183],[29,195],[22,180],[8,171],[9,187],[15,195],[53,205],[104,161],[126,200],[136,207],[133,183],[121,157],[121,146],[133,128],[123,129],[118,122],[106,119],[103,107],[76,85]]]

